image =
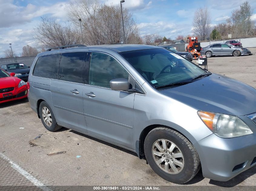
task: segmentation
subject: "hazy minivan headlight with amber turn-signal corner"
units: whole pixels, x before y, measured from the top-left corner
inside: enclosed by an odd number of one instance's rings
[[[198,111],[204,124],[217,136],[222,138],[240,137],[253,132],[238,117],[221,113]]]

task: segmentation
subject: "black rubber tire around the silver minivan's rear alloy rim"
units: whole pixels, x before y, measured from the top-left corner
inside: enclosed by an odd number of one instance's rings
[[[48,124],[46,124],[46,122],[44,121],[44,117],[43,117],[43,115],[42,115],[42,112],[43,112],[42,109],[43,109],[44,107],[46,107],[46,108],[49,110],[50,114],[51,114],[52,123],[51,123],[50,126],[48,126]],[[48,104],[47,102],[42,101],[42,102],[40,103],[40,106],[39,106],[39,115],[40,115],[40,118],[41,118],[41,121],[42,121],[43,125],[45,126],[45,128],[46,128],[48,131],[52,131],[52,132],[53,132],[53,131],[57,131],[57,130],[59,130],[59,129],[62,128],[62,126],[59,126],[59,125],[57,124],[57,122],[56,122],[56,120],[55,120],[55,117],[54,117],[54,114],[53,114],[53,111],[52,111],[51,107],[49,106],[49,104]]]

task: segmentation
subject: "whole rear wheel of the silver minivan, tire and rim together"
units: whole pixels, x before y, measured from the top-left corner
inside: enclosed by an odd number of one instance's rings
[[[47,102],[42,101],[40,103],[39,115],[43,125],[48,131],[57,131],[62,128],[62,126],[57,124],[52,109]]]

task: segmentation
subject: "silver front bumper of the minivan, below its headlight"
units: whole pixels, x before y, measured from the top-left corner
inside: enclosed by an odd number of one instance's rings
[[[256,165],[256,135],[220,138],[214,134],[194,144],[203,176],[227,181]]]

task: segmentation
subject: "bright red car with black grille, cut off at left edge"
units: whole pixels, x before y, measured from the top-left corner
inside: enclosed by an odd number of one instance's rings
[[[23,99],[27,97],[28,87],[25,81],[13,77],[0,68],[0,103]]]

